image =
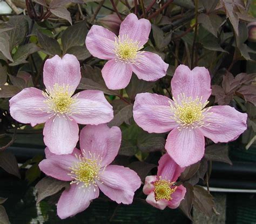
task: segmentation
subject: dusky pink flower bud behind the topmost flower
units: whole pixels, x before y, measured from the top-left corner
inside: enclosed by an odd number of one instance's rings
[[[100,25],[104,26],[105,28],[112,31],[114,34],[118,35],[120,24],[122,21],[117,15],[112,14],[98,19],[98,22]]]

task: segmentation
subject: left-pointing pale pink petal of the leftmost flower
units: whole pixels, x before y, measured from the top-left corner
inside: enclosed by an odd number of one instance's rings
[[[47,105],[42,90],[30,87],[23,89],[9,100],[10,114],[15,120],[35,126],[45,123],[51,114],[45,112]]]

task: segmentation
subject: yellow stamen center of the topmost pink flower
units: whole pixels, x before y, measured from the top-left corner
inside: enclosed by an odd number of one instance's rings
[[[139,47],[139,42],[130,39],[127,35],[118,36],[114,41],[114,45],[113,51],[117,56],[116,61],[119,60],[124,63],[136,63],[138,55],[143,52],[139,51],[143,46]]]

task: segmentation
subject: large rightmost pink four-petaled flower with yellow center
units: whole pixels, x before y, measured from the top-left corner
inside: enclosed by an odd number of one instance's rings
[[[179,65],[171,81],[173,100],[158,94],[137,94],[133,117],[149,133],[172,130],[165,148],[181,167],[199,161],[204,136],[215,143],[233,141],[247,128],[246,113],[231,106],[205,106],[211,96],[211,78],[205,67],[192,71]]]

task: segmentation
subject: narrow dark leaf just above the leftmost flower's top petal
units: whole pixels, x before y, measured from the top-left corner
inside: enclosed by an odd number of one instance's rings
[[[43,47],[45,53],[51,56],[61,55],[62,50],[56,39],[50,38],[39,31],[36,32],[36,35],[38,42]]]

